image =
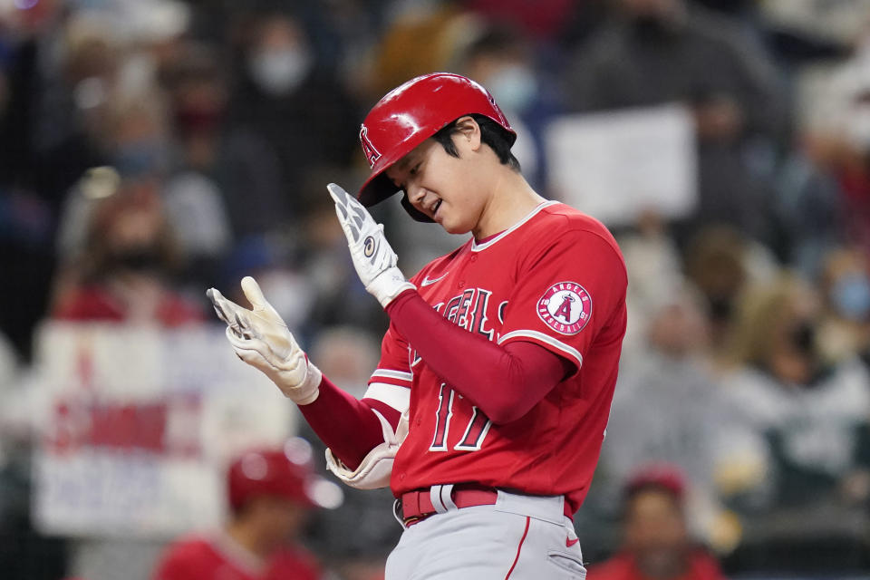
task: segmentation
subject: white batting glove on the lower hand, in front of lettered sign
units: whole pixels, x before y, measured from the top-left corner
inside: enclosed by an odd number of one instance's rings
[[[215,312],[227,323],[227,339],[238,358],[264,372],[296,404],[314,402],[320,394],[320,369],[308,360],[254,278],[242,278],[242,292],[251,310],[227,300],[215,288],[206,292]]]

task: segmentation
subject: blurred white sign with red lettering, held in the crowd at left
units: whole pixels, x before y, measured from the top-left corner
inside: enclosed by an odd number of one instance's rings
[[[295,427],[292,405],[221,328],[50,323],[37,353],[34,520],[45,533],[217,526],[227,461]]]

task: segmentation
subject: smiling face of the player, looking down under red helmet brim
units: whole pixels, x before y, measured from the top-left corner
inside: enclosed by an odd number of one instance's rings
[[[434,139],[399,160],[387,177],[407,194],[411,205],[451,234],[464,234],[477,226],[482,201],[475,186],[476,172],[469,162],[466,140],[453,138],[459,158],[449,155]]]

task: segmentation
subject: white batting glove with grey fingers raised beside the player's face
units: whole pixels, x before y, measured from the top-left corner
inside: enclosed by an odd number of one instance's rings
[[[368,210],[340,186],[330,183],[326,189],[335,201],[335,213],[347,237],[353,266],[369,294],[386,308],[401,292],[416,290],[417,286],[396,267],[399,258],[383,235],[383,225],[375,223]]]

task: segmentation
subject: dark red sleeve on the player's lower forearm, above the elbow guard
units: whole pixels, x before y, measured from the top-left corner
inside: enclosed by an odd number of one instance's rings
[[[356,469],[369,451],[383,442],[381,420],[372,409],[380,412],[395,429],[399,411],[375,399],[359,401],[325,376],[317,399],[299,406],[320,440],[350,469]]]

